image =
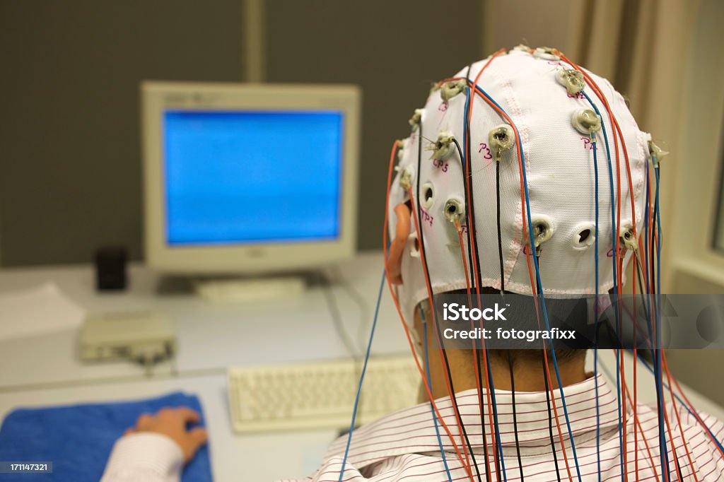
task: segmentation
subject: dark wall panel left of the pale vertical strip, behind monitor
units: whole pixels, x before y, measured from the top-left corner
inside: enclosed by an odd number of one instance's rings
[[[141,253],[138,82],[238,81],[239,0],[0,2],[6,266]]]

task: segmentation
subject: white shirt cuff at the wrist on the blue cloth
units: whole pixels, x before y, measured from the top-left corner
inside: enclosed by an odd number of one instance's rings
[[[169,437],[130,434],[116,441],[101,482],[178,482],[183,462],[181,447]]]

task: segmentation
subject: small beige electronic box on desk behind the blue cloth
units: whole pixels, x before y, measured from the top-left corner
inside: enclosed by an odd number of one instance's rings
[[[175,352],[171,321],[156,311],[90,314],[80,330],[80,358],[84,361],[129,359],[150,366]]]

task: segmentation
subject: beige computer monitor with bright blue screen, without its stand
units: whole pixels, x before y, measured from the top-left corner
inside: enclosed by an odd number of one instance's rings
[[[145,81],[146,262],[306,269],[355,251],[360,90]]]

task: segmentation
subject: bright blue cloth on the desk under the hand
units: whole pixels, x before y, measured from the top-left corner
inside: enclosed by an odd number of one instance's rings
[[[53,473],[0,473],[0,481],[97,482],[114,442],[135,425],[138,415],[180,406],[201,413],[203,425],[201,402],[182,392],[134,402],[13,410],[0,428],[0,461],[53,462]],[[187,465],[182,481],[211,481],[208,446]]]

